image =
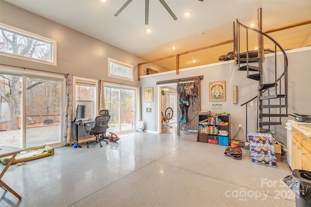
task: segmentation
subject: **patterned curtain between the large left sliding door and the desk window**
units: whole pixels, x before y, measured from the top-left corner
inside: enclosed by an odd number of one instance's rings
[[[71,141],[71,116],[72,116],[72,74],[66,77],[66,108],[65,108],[65,131],[64,143],[70,144]]]

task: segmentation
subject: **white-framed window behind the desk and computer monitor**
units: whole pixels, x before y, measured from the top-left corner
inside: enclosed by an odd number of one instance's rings
[[[86,78],[78,78],[74,77],[73,81],[75,83],[74,87],[74,100],[75,104],[73,105],[73,112],[77,105],[85,105],[86,106],[86,118],[95,118],[97,115],[97,107],[96,107],[96,88],[98,85],[97,80],[91,80]],[[74,119],[75,113],[72,114],[72,118]]]

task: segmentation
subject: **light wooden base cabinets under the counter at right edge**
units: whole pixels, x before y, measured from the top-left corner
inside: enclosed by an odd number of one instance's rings
[[[311,171],[311,139],[292,128],[292,169]]]

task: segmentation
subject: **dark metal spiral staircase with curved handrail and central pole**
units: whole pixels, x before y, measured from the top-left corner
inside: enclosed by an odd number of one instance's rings
[[[258,9],[258,29],[247,27],[241,24],[238,19],[234,22],[234,63],[238,65],[238,70],[246,71],[247,78],[258,82],[258,95],[241,104],[241,106],[246,106],[246,130],[247,104],[257,99],[257,132],[267,133],[270,131],[271,125],[282,124],[281,117],[288,117],[288,59],[283,48],[271,36],[261,32],[261,28],[261,8]],[[258,49],[256,50],[249,50],[250,34],[252,33],[257,34]],[[244,39],[246,37],[246,42],[241,41],[241,36]],[[273,43],[274,49],[263,48],[263,37]],[[246,52],[240,52],[242,47],[246,47]],[[243,51],[245,51],[244,48]],[[277,55],[279,52],[283,56]],[[273,53],[274,68],[263,67],[264,53]],[[271,65],[273,64],[269,63],[269,66]]]

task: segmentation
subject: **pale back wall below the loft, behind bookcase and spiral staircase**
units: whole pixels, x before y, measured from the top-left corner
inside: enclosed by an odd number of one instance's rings
[[[307,114],[311,115],[311,47],[286,51],[289,60],[288,66],[288,114]],[[278,55],[277,59],[282,59],[282,55]],[[263,63],[265,78],[271,79],[271,71],[274,68],[274,56],[266,55],[265,63]],[[282,61],[278,61],[280,65]],[[279,67],[279,66],[278,66]],[[268,69],[268,70],[267,70]],[[167,72],[164,74],[150,75],[141,77],[139,84],[141,88],[154,87],[154,102],[148,102],[152,107],[153,114],[144,113],[147,107],[142,96],[142,119],[145,121],[146,131],[157,131],[157,122],[160,117],[157,111],[158,91],[156,82],[164,80],[172,80],[178,78],[186,78],[203,75],[201,80],[201,110],[215,113],[226,112],[231,115],[231,138],[238,132],[238,124],[242,124],[242,133],[240,132],[236,139],[245,140],[245,135],[248,132],[256,132],[257,122],[257,101],[254,106],[247,106],[248,121],[246,132],[246,113],[245,106],[240,106],[249,99],[257,96],[257,81],[246,78],[246,71],[238,71],[237,66],[233,61],[211,64],[202,67],[181,69],[179,74]],[[209,102],[208,84],[214,81],[226,82],[226,101],[225,102]],[[233,88],[238,86],[238,104],[233,104]],[[222,104],[222,109],[212,109],[212,104]],[[148,106],[149,107],[149,106]],[[276,137],[286,144],[286,129],[285,123],[288,119],[294,117],[282,118],[282,125],[271,126],[271,130],[276,132]]]

